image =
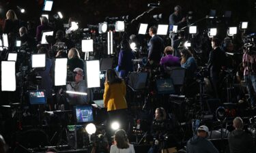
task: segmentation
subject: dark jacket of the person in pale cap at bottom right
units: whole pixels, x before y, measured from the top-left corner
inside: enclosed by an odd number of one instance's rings
[[[195,135],[186,144],[186,153],[218,153],[211,141]]]

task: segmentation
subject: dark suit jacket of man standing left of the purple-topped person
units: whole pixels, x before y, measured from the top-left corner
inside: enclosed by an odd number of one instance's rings
[[[154,37],[150,39],[148,47],[149,52],[147,58],[156,63],[159,63],[162,57],[162,52],[164,51],[164,41],[162,38],[158,35],[154,35]]]

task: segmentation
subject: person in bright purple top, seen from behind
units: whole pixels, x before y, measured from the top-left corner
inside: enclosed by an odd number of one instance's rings
[[[180,58],[173,56],[173,48],[167,46],[164,51],[165,56],[161,58],[160,65],[166,67],[180,67]]]

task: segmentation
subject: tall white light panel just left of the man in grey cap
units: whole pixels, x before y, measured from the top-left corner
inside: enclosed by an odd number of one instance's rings
[[[68,58],[56,58],[55,60],[55,86],[66,85]]]

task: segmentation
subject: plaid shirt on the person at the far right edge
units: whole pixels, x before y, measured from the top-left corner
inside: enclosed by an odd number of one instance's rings
[[[242,63],[246,64],[246,67],[244,67],[244,75],[248,75],[250,72],[256,73],[256,54],[249,55],[245,52],[242,56]]]

